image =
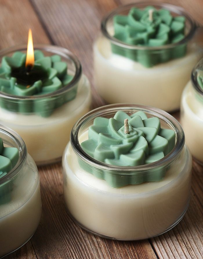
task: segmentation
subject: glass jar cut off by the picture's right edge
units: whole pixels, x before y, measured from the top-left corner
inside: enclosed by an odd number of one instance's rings
[[[203,74],[202,71],[203,59],[193,69],[191,80],[183,91],[180,113],[186,144],[199,163],[203,163],[203,89],[197,78]]]

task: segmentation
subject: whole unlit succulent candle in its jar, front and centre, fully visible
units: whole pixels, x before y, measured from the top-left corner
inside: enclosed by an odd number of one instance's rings
[[[150,238],[188,207],[191,155],[180,124],[161,110],[126,104],[91,111],[73,127],[62,164],[68,211],[97,235]]]

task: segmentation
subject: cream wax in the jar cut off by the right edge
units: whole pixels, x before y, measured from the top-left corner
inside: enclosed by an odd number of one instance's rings
[[[203,102],[197,99],[191,81],[182,95],[181,124],[191,154],[203,163]]]

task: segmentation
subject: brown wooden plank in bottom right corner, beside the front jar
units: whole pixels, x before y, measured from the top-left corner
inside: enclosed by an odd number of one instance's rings
[[[193,162],[191,202],[182,221],[171,231],[153,238],[159,258],[199,259],[203,257],[202,167]]]

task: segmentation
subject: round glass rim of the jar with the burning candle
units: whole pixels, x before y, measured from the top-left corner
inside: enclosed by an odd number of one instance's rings
[[[81,78],[82,75],[82,66],[80,64],[79,59],[72,53],[70,52],[70,50],[60,47],[60,46],[56,46],[56,45],[47,45],[47,44],[35,44],[34,45],[34,50],[44,50],[47,52],[52,52],[53,54],[58,54],[62,57],[64,57],[65,59],[69,59],[71,61],[73,61],[73,64],[75,65],[75,75],[73,77],[73,79],[64,87],[62,87],[59,90],[56,90],[52,93],[48,93],[48,94],[43,94],[43,95],[30,95],[30,96],[18,96],[18,95],[10,95],[4,92],[0,91],[0,97],[4,97],[4,98],[8,98],[10,100],[30,100],[30,99],[44,99],[46,97],[57,97],[61,94],[64,94],[66,92],[68,92],[69,90],[71,90],[75,84],[78,83],[79,79]],[[27,50],[27,45],[26,44],[19,44],[19,45],[15,45],[9,48],[5,48],[0,50],[0,58],[2,58],[5,55],[8,55],[12,52],[15,51],[22,51],[22,50]]]

